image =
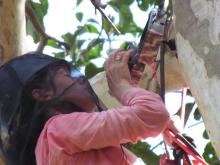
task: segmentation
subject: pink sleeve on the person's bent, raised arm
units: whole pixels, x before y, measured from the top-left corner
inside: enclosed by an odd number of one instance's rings
[[[40,140],[46,138],[49,148],[73,154],[157,136],[169,121],[157,94],[130,88],[120,101],[123,106],[108,111],[54,116],[46,123]]]

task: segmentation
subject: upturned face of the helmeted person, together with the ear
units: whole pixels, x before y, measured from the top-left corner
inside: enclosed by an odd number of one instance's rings
[[[54,97],[59,97],[61,101],[70,102],[85,112],[97,110],[87,80],[82,77],[71,77],[69,70],[64,66],[51,71],[50,75],[53,79],[54,89],[34,89],[32,95],[36,100],[49,101]],[[61,111],[66,112],[65,109]]]

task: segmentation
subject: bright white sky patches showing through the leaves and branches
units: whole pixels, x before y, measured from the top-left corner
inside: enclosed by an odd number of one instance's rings
[[[36,0],[37,2],[38,0]],[[97,12],[95,14],[94,7],[90,3],[90,1],[83,1],[82,4],[78,7],[76,7],[76,1],[74,0],[49,0],[49,9],[48,14],[44,19],[44,24],[46,28],[46,33],[56,37],[58,39],[61,39],[61,35],[65,34],[67,32],[74,32],[76,29],[76,26],[79,25],[79,22],[75,18],[75,12],[83,12],[84,18],[93,17],[94,19],[100,20],[101,16]],[[142,18],[140,21],[137,21],[137,25],[141,28],[144,28],[146,21],[148,18],[148,12],[140,11],[137,7],[137,5],[132,5],[131,10],[133,10],[134,19],[140,20],[137,18]],[[112,11],[110,8],[106,8],[105,12],[107,14],[115,14],[114,11]],[[117,20],[116,20],[117,22]],[[131,36],[126,36],[128,40],[134,40]],[[32,39],[28,37],[28,43],[29,43],[29,49],[32,49],[36,47],[35,44],[33,44]],[[45,53],[50,54],[53,49],[46,48]],[[106,57],[104,57],[106,58]],[[97,65],[103,65],[104,58],[99,59],[97,62]],[[171,115],[175,114],[177,110],[181,106],[181,93],[177,92],[170,92],[166,94],[166,108],[170,112]],[[187,97],[187,102],[193,102],[193,98]],[[197,124],[200,123],[200,124]],[[192,126],[194,125],[195,126]],[[189,128],[188,128],[189,127]],[[200,154],[203,153],[203,149],[205,144],[207,143],[207,140],[202,138],[202,133],[204,131],[204,125],[202,121],[195,121],[191,115],[188,124],[186,128],[184,129],[185,133],[188,133],[194,140],[195,143],[198,146],[198,151]],[[154,148],[158,143],[162,141],[162,137],[158,136],[157,138],[149,138],[146,140],[148,143],[151,144],[151,148]],[[154,152],[157,154],[163,154],[164,152],[164,146],[160,145],[156,149],[154,149]]]

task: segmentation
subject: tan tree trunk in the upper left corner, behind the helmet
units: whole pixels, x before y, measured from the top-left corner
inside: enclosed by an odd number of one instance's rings
[[[25,0],[0,0],[0,65],[24,51],[24,11]]]

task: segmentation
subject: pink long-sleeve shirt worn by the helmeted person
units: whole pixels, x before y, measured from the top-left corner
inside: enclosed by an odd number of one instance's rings
[[[132,165],[137,157],[120,144],[154,137],[169,121],[159,95],[126,90],[122,106],[102,112],[56,115],[44,126],[35,149],[38,165]]]

